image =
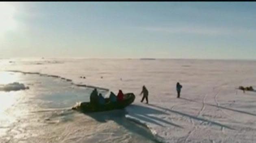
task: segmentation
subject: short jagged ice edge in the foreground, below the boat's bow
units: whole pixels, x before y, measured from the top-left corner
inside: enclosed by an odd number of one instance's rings
[[[152,133],[152,135],[154,136],[156,141],[165,143],[165,140],[157,134],[156,130],[151,128],[146,122],[143,122],[142,120],[139,120],[138,118],[132,117],[130,115],[125,115],[125,118],[127,118],[128,120],[131,120],[132,122],[140,124],[141,126],[144,126],[145,128],[148,128],[148,130],[150,130],[150,132]]]

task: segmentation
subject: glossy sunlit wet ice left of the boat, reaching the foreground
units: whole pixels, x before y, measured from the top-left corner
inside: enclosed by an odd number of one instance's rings
[[[33,74],[0,72],[27,90],[0,91],[1,143],[155,143],[150,130],[125,118],[125,110],[82,114],[71,110],[88,101],[92,88]],[[8,85],[8,84],[7,84]],[[99,90],[106,94],[106,91]]]

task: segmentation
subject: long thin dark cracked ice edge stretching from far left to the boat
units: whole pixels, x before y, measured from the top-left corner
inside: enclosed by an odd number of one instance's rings
[[[9,71],[9,72],[18,72],[18,73],[22,73],[22,74],[38,74],[40,76],[48,76],[48,77],[52,77],[52,78],[59,78],[61,80],[66,80],[67,82],[71,82],[71,84],[73,84],[75,86],[87,87],[87,88],[98,88],[98,89],[101,89],[101,90],[109,91],[109,89],[107,89],[107,88],[102,88],[102,87],[98,87],[98,86],[91,86],[91,85],[87,85],[87,84],[75,84],[74,82],[72,82],[71,79],[63,78],[61,76],[56,76],[56,75],[41,74],[39,72],[24,72],[24,71],[17,71],[17,70],[7,70],[7,71]]]

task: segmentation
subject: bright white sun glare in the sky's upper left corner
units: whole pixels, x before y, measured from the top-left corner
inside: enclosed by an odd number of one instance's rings
[[[0,2],[0,34],[16,28],[14,14],[15,7],[13,5]]]

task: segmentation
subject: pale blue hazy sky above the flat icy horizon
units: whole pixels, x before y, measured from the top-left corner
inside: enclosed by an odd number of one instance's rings
[[[256,59],[256,2],[0,2],[0,58]]]

